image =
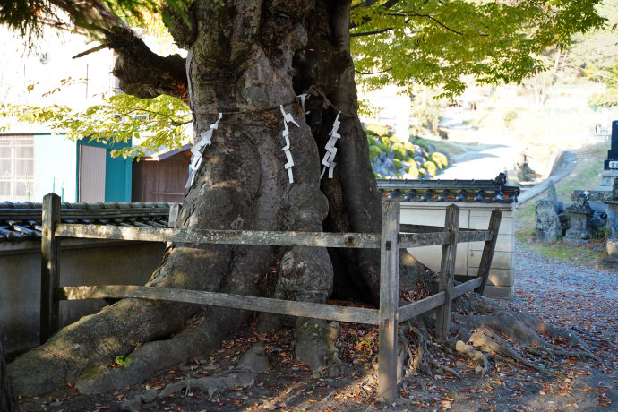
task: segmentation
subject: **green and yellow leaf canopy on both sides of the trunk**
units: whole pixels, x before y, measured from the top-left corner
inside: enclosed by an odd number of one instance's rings
[[[129,25],[153,28],[153,21],[163,21],[170,30],[191,27],[186,12],[192,3],[0,0],[0,22],[36,42],[41,17],[68,13],[102,47],[117,48],[124,47]],[[539,56],[548,47],[568,47],[575,34],[603,29],[607,21],[597,11],[599,4],[602,0],[355,0],[349,30],[356,83],[367,90],[394,83],[409,93],[418,84],[438,86],[439,97],[455,97],[466,89],[464,79],[470,76],[481,84],[521,82],[545,70]],[[182,145],[181,125],[189,122],[189,110],[173,98],[186,101],[185,86],[145,92],[125,84],[123,89],[136,98],[112,97],[82,112],[2,102],[2,113],[30,123],[47,122],[72,138],[126,141],[152,133],[124,155]]]

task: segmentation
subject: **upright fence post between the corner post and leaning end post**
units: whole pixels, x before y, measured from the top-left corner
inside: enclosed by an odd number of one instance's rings
[[[459,231],[459,207],[451,204],[446,208],[444,231],[451,234],[451,242],[442,245],[442,262],[440,264],[440,292],[446,296],[444,305],[436,308],[435,336],[446,339],[451,329],[451,305],[453,290],[453,271],[455,270],[455,256],[457,254],[457,237]]]

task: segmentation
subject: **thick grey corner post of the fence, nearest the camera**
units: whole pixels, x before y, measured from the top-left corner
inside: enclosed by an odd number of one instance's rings
[[[388,402],[397,398],[399,209],[398,201],[387,200],[382,203],[378,395]]]

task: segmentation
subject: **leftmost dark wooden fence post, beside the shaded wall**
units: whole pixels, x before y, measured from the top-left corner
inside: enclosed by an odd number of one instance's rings
[[[49,193],[43,198],[43,236],[41,237],[41,309],[40,343],[43,344],[60,324],[59,303],[54,300],[54,289],[59,283],[60,243],[54,231],[60,223],[60,197]]]

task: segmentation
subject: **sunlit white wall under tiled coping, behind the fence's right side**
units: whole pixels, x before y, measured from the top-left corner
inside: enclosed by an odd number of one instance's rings
[[[401,223],[412,225],[444,226],[444,213],[448,202],[401,202]],[[495,245],[494,260],[489,271],[485,296],[512,299],[513,289],[513,234],[515,232],[515,203],[455,203],[459,206],[459,227],[487,229],[492,210],[502,210],[502,222]],[[483,254],[484,242],[457,245],[455,274],[476,276]],[[433,271],[440,270],[442,246],[425,246],[408,249],[409,253]]]

